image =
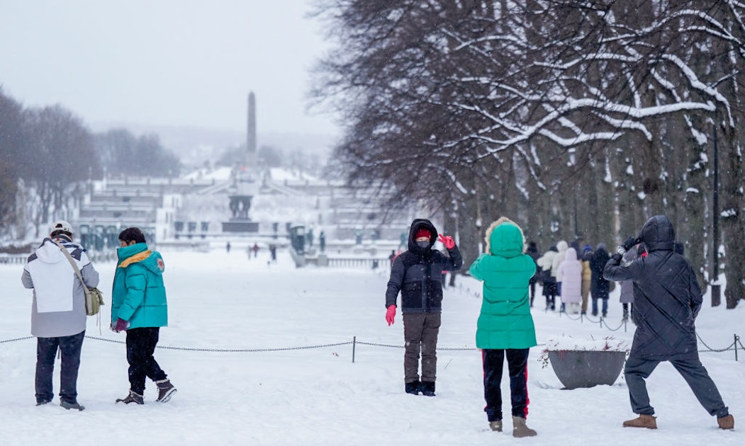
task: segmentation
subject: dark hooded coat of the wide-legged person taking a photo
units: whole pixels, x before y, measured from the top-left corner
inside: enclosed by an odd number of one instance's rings
[[[606,264],[608,280],[634,283],[636,323],[631,355],[652,360],[698,357],[694,320],[703,302],[693,267],[673,252],[675,230],[665,215],[647,220],[639,234],[647,249],[628,266]]]

